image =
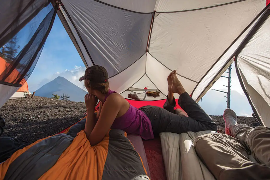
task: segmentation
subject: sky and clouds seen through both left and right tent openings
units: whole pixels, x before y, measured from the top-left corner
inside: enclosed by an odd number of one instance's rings
[[[234,67],[234,65],[233,65]],[[79,56],[75,46],[70,40],[66,30],[58,16],[46,40],[43,51],[39,57],[33,73],[27,80],[29,91],[33,92],[44,84],[63,76],[73,84],[83,88],[83,83],[79,82],[79,77],[84,74],[85,65]],[[227,76],[227,74],[224,74]],[[212,89],[223,90],[223,85],[227,85],[226,78],[220,78],[211,90],[203,97],[203,102],[199,102],[202,108],[210,115],[222,115],[226,106],[225,94]],[[231,108],[239,116],[251,116],[252,109],[239,84],[235,69],[232,70],[232,97]]]

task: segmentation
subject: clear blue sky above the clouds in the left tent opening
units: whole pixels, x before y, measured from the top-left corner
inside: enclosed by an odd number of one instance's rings
[[[84,69],[85,65],[60,19],[56,16],[38,63],[27,80],[29,90],[33,92],[48,80],[52,80],[52,77],[58,73],[64,73],[66,70],[75,71],[78,67]]]

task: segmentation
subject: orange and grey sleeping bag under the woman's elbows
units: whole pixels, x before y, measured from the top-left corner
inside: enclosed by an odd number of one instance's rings
[[[0,180],[149,179],[124,131],[111,129],[99,144],[91,146],[83,131],[85,121],[16,151],[0,164]]]

